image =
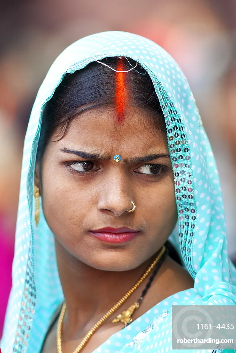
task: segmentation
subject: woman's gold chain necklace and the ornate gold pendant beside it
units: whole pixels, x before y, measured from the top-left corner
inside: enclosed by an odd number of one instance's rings
[[[96,330],[99,329],[99,327],[117,310],[119,307],[125,302],[126,299],[129,298],[129,296],[134,293],[134,291],[138,288],[138,286],[141,285],[143,280],[147,277],[147,275],[152,271],[154,266],[158,263],[160,258],[163,256],[166,248],[165,245],[163,245],[161,251],[159,252],[158,256],[155,258],[153,263],[149,266],[146,272],[140,277],[140,279],[135,283],[135,285],[122,297],[110,310],[107,311],[107,313],[102,316],[102,318],[92,327],[91,330],[88,331],[88,333],[84,336],[83,340],[81,343],[79,343],[78,347],[73,351],[73,353],[79,353],[81,349],[84,347],[84,345],[89,341],[89,339],[93,336],[93,334],[96,332]],[[130,323],[132,321],[132,314],[134,313],[135,309],[139,307],[139,303],[135,303],[134,305],[130,306],[126,311],[123,311],[122,314],[117,316],[117,319],[114,319],[112,322],[123,322],[125,325],[127,323]],[[57,324],[57,352],[62,353],[62,345],[61,345],[61,330],[62,330],[62,324],[63,324],[63,319],[65,316],[66,312],[66,304],[63,303],[63,306],[61,308],[60,316],[58,319],[58,324]],[[126,318],[126,320],[125,320]]]

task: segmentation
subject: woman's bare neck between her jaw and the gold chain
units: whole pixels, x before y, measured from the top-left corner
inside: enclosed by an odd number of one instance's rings
[[[154,260],[148,259],[129,271],[104,271],[90,267],[67,252],[55,240],[58,271],[67,306],[68,327],[80,327],[92,318],[100,319],[137,282]],[[146,281],[127,300],[138,300]],[[132,302],[132,303],[131,303]]]

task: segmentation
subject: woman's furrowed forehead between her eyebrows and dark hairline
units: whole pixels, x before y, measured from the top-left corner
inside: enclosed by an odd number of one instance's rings
[[[72,120],[59,143],[76,148],[94,147],[100,152],[117,149],[137,152],[157,149],[167,151],[166,136],[155,127],[153,119],[155,118],[144,109],[129,107],[120,124],[117,123],[113,108],[89,109]]]

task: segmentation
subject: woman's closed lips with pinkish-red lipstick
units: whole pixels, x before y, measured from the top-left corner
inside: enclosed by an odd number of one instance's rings
[[[106,241],[108,243],[126,243],[132,239],[134,239],[139,231],[131,228],[112,228],[105,227],[101,229],[96,229],[90,231],[95,237],[99,240]]]

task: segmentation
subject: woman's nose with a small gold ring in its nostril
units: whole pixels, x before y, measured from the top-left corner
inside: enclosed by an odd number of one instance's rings
[[[111,173],[102,181],[98,200],[100,211],[112,212],[114,216],[119,217],[133,208],[131,203],[134,200],[133,190],[127,176],[123,173]]]

